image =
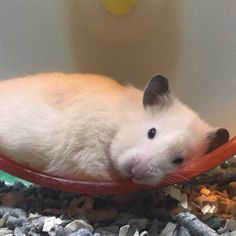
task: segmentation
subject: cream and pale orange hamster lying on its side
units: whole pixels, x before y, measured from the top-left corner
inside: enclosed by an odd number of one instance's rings
[[[144,91],[91,74],[38,74],[0,82],[0,153],[72,179],[156,184],[229,139],[154,76]]]

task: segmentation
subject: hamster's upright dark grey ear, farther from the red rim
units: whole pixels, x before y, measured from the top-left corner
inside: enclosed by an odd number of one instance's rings
[[[162,75],[154,76],[147,84],[143,94],[143,106],[169,104],[170,90],[168,80]]]

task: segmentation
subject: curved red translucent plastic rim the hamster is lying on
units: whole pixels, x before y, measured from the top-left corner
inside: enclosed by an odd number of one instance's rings
[[[63,191],[79,192],[84,194],[123,194],[129,192],[139,192],[148,189],[168,186],[170,184],[181,183],[191,179],[201,173],[221,164],[236,154],[236,137],[222,145],[213,152],[189,161],[175,172],[165,177],[155,186],[144,186],[133,183],[131,180],[121,181],[80,181],[63,179],[51,176],[39,171],[20,165],[9,158],[0,156],[0,169],[16,177],[25,179],[49,188],[56,188]]]

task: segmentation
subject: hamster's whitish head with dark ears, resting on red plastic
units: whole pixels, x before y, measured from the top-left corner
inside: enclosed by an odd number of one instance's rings
[[[114,167],[136,183],[157,184],[190,158],[213,151],[229,133],[212,128],[171,94],[168,80],[153,77],[143,93],[143,108],[123,125],[111,144]]]

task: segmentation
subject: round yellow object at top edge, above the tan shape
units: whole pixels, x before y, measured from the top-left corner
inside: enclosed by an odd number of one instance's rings
[[[104,8],[113,15],[121,16],[131,11],[137,0],[102,0]]]

